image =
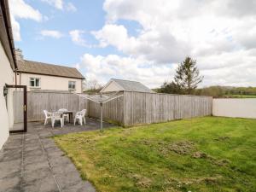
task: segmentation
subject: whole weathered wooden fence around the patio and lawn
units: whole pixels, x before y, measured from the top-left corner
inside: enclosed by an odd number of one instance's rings
[[[17,97],[18,94],[14,94]],[[14,98],[14,101],[19,98]],[[90,117],[100,117],[100,106],[72,93],[28,92],[28,120],[44,119],[43,110],[71,111],[87,109]],[[131,126],[164,122],[172,119],[189,119],[212,114],[212,97],[182,96],[125,91],[124,96],[103,105],[104,119]]]

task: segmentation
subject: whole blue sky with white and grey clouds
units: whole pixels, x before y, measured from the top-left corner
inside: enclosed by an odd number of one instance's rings
[[[255,0],[9,0],[25,59],[88,81],[172,81],[190,56],[209,85],[256,86]]]

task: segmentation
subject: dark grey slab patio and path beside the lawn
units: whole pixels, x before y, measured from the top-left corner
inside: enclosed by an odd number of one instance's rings
[[[112,125],[104,123],[105,128]],[[42,122],[29,123],[27,133],[10,135],[0,151],[0,191],[57,192],[95,191],[83,181],[73,163],[49,138],[70,132],[91,131],[100,121],[86,119],[86,125],[51,128]]]

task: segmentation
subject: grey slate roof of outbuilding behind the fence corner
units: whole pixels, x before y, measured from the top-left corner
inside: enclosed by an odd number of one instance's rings
[[[127,90],[127,91],[154,93],[153,90],[150,90],[144,84],[137,81],[123,80],[123,79],[111,79],[111,80],[119,84],[121,87],[124,88],[124,90]]]

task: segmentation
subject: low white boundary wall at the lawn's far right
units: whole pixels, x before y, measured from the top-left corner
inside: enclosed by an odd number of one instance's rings
[[[256,99],[213,99],[212,115],[256,119]]]

